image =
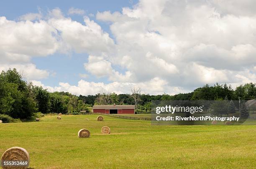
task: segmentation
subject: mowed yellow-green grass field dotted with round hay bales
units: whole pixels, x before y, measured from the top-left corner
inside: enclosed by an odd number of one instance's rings
[[[84,121],[85,118],[90,121]],[[255,126],[151,126],[150,121],[97,115],[0,124],[0,155],[14,146],[35,169],[255,168]],[[101,134],[108,126],[111,134]],[[78,138],[79,129],[91,132]]]

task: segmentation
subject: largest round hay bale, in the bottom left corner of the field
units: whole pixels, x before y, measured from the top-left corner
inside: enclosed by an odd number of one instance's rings
[[[24,166],[4,166],[4,162],[16,161],[16,162],[27,162]],[[3,169],[27,169],[29,166],[29,154],[26,149],[21,147],[12,147],[6,150],[1,157],[1,164]]]

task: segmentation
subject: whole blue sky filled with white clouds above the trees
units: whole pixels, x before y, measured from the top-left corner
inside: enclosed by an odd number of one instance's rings
[[[3,0],[0,70],[50,92],[256,82],[254,0]]]

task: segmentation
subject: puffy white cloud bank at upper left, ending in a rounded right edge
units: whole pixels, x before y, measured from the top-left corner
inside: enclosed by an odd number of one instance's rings
[[[84,17],[84,23],[65,17],[59,8],[50,10],[44,17],[40,11],[28,13],[20,16],[18,21],[0,17],[1,67],[6,69],[15,65],[25,70],[28,79],[38,80],[46,78],[49,73],[36,69],[31,64],[32,57],[45,57],[57,52],[99,55],[109,52],[114,45],[109,35],[88,17]],[[37,73],[38,76],[35,76]]]

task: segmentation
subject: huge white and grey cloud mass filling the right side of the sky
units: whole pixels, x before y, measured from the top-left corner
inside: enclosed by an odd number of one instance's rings
[[[124,67],[132,82],[160,78],[185,89],[237,84],[255,80],[256,66],[256,2],[241,3],[140,0],[122,12],[98,12],[96,18],[111,23],[116,40],[118,50],[108,62]],[[242,10],[235,10],[240,5]]]

